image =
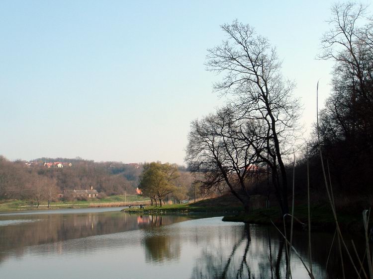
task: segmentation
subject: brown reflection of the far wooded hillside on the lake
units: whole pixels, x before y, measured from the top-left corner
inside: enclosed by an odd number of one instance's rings
[[[82,239],[91,236],[108,235],[118,232],[146,229],[189,220],[186,216],[138,216],[115,211],[83,211],[72,214],[71,211],[38,214],[2,214],[0,215],[0,263],[9,256],[24,254],[29,246],[52,243],[48,249],[61,254],[63,241]],[[79,211],[78,211],[79,212]],[[158,240],[156,241],[158,242]],[[161,242],[160,242],[161,243]],[[84,243],[79,250],[93,249],[96,243]],[[101,243],[102,244],[102,243]],[[54,248],[53,248],[54,247]],[[70,247],[69,249],[74,249]]]

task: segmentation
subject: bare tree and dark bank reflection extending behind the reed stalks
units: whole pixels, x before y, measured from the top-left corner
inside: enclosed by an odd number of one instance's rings
[[[330,233],[313,233],[311,249],[315,278],[336,279],[342,276],[336,247],[332,249],[328,269],[325,268],[332,237]],[[295,231],[293,239],[293,246],[309,267],[307,234]],[[288,259],[285,243],[274,227],[244,224],[202,245],[190,278],[286,278]],[[349,263],[345,263],[345,267],[346,276],[355,278],[356,274]],[[290,271],[292,278],[309,278],[300,259],[293,252]]]

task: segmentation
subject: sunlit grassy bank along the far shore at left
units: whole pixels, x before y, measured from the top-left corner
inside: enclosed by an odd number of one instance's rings
[[[90,199],[87,201],[57,201],[50,204],[50,209],[67,209],[67,208],[88,208],[88,207],[113,207],[125,206],[128,203],[143,202],[148,200],[146,197],[137,195],[108,196],[103,199]],[[125,204],[125,201],[127,204]],[[42,201],[39,208],[36,207],[34,200],[0,200],[0,211],[18,211],[18,210],[45,210],[48,203]]]

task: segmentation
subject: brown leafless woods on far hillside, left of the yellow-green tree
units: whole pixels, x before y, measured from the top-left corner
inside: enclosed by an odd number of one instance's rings
[[[73,162],[71,167],[47,168],[45,161]],[[0,157],[0,198],[48,200],[65,190],[93,187],[102,195],[135,194],[141,165],[99,162],[82,159],[37,159],[28,167],[24,161],[11,162]]]

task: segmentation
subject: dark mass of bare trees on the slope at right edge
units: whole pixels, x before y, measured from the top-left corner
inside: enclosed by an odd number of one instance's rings
[[[325,192],[320,146],[337,207],[362,210],[373,205],[373,19],[366,7],[343,3],[332,6],[329,24],[319,57],[334,62],[331,92],[296,165],[295,185],[304,192],[308,151],[312,192]]]

